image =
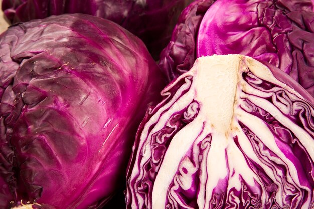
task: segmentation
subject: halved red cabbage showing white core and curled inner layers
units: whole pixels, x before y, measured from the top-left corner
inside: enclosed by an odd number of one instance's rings
[[[137,132],[127,208],[313,208],[314,98],[283,71],[201,57],[162,95]]]

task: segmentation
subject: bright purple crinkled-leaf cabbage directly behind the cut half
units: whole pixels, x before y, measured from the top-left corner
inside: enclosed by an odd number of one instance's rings
[[[243,54],[279,67],[314,95],[312,10],[310,0],[195,1],[182,12],[160,67],[172,80],[202,55]]]

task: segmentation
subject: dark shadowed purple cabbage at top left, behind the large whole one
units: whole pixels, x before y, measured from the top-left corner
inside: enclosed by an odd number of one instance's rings
[[[84,13],[114,21],[141,38],[156,57],[170,40],[178,16],[192,0],[4,0],[12,23],[64,13]]]

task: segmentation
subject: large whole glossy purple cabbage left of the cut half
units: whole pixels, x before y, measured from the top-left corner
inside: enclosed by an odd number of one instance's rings
[[[14,201],[99,208],[124,187],[138,124],[164,77],[140,39],[66,14],[0,36],[0,176]]]

